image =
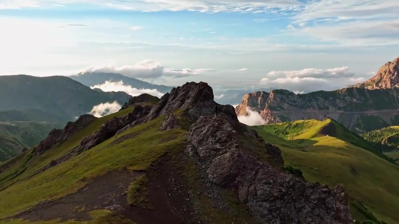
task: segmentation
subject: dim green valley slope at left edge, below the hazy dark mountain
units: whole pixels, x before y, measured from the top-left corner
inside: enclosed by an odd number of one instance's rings
[[[45,139],[59,124],[41,122],[0,122],[0,161],[5,161]]]

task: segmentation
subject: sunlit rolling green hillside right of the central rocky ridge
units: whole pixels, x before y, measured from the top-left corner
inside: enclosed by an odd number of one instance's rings
[[[286,165],[301,169],[306,180],[329,186],[343,183],[351,198],[363,201],[379,220],[399,223],[397,166],[375,155],[375,151],[356,146],[366,142],[333,120],[290,123],[254,129],[265,141],[278,145]],[[271,132],[285,139],[273,137]],[[350,209],[354,218],[366,219],[352,204]]]

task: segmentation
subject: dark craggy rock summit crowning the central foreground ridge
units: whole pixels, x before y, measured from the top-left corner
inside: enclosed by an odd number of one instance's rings
[[[191,82],[173,88],[170,93],[162,96],[158,104],[148,114],[146,121],[178,109],[185,110],[188,118],[196,121],[199,116],[215,114],[216,107],[219,114],[227,114],[230,118],[238,122],[233,106],[220,105],[213,100],[211,86],[203,82]]]

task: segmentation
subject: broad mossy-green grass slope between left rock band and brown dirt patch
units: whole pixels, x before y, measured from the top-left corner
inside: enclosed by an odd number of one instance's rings
[[[144,125],[129,129],[116,136],[132,132],[146,131],[135,138],[112,145],[115,138],[97,145],[93,149],[82,153],[72,159],[48,169],[26,181],[14,184],[0,192],[0,218],[5,218],[50,198],[75,192],[83,187],[91,178],[104,174],[107,171],[127,167],[130,170],[145,170],[166,150],[182,144],[184,132],[173,130],[170,132],[159,131],[154,120]],[[160,144],[164,138],[175,136],[176,139]],[[154,141],[156,139],[157,141]],[[159,140],[159,141],[158,141]],[[95,153],[92,153],[95,151]],[[75,169],[71,169],[75,167]],[[86,178],[83,180],[83,178]]]

